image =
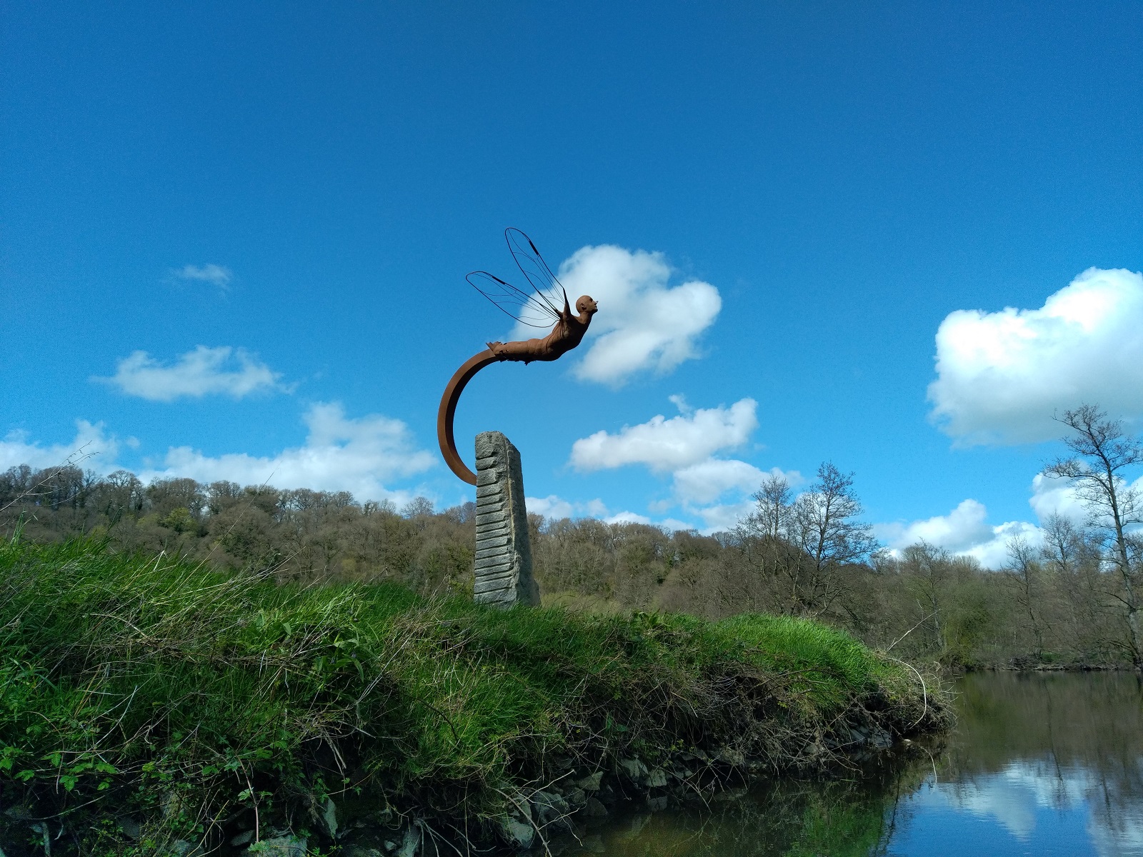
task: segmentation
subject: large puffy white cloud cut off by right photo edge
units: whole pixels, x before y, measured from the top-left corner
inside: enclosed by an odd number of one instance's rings
[[[1088,269],[1038,310],[958,310],[936,334],[932,417],[961,443],[1063,432],[1053,414],[1098,402],[1143,414],[1143,275]]]

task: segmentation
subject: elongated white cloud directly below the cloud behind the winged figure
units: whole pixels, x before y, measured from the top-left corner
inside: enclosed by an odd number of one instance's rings
[[[697,464],[720,449],[745,443],[758,427],[758,402],[741,399],[729,408],[690,410],[677,399],[684,413],[668,419],[662,414],[639,425],[625,425],[617,433],[598,431],[572,444],[570,463],[576,470],[593,471],[644,464],[656,473],[676,472]]]

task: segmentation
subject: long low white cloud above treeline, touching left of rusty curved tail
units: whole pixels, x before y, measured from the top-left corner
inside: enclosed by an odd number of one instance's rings
[[[190,476],[199,482],[230,480],[240,484],[267,483],[275,488],[351,491],[359,500],[392,499],[398,505],[411,495],[385,487],[390,480],[429,470],[435,458],[417,449],[400,419],[370,414],[351,418],[336,402],[318,402],[303,417],[310,433],[305,444],[278,455],[257,457],[232,452],[217,457],[190,447],[167,451],[162,467],[141,473],[145,481]]]

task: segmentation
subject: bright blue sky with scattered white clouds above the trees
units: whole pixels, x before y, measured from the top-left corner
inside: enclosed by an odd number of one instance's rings
[[[437,403],[511,333],[464,274],[512,279],[518,226],[600,301],[461,403],[535,508],[710,530],[830,459],[887,543],[996,556],[1060,500],[1053,410],[1143,414],[1141,37],[1135,3],[6,3],[0,465],[90,439],[457,503]]]

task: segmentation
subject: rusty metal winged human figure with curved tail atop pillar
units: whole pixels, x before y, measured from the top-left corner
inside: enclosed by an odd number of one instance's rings
[[[489,363],[558,360],[583,342],[591,317],[599,309],[591,297],[583,295],[575,302],[576,311],[573,313],[567,291],[547,267],[547,263],[531,239],[517,229],[504,230],[504,238],[507,240],[512,258],[531,286],[531,291],[518,289],[487,271],[474,271],[469,274],[469,282],[520,323],[536,328],[551,327],[552,330],[547,336],[537,339],[488,343],[487,351],[469,358],[445,387],[437,411],[437,440],[440,442],[440,452],[445,456],[449,470],[469,484],[477,483],[477,474],[461,460],[453,436],[453,417],[456,415],[456,403],[465,385]],[[559,305],[560,297],[563,298],[562,306]]]

